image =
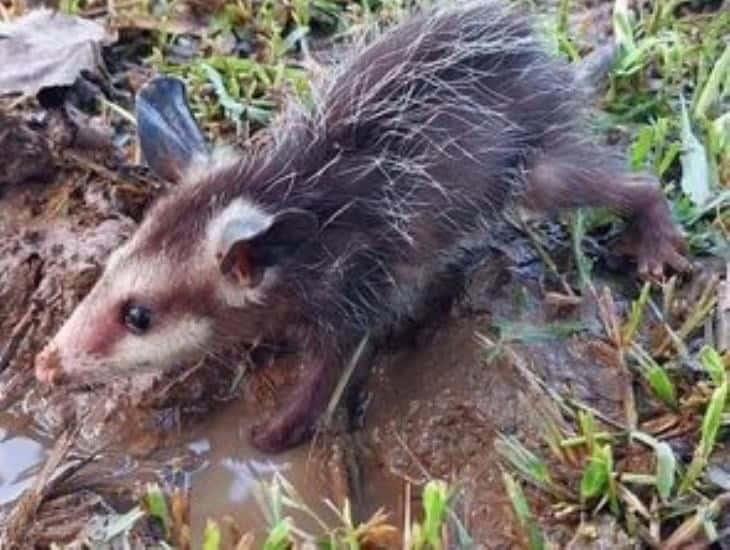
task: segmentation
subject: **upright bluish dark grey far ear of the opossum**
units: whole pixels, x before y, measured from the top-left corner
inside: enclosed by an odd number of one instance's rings
[[[181,80],[157,77],[148,82],[137,94],[136,116],[142,154],[161,178],[180,181],[191,162],[208,157]]]

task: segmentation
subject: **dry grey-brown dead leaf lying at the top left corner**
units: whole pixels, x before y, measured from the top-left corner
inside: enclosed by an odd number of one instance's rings
[[[70,86],[82,72],[103,74],[101,46],[116,34],[89,19],[48,9],[0,24],[0,95]]]

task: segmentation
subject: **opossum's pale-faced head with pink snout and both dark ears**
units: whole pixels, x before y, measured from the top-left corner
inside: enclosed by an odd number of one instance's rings
[[[255,339],[281,261],[316,229],[307,212],[211,193],[235,177],[240,161],[210,160],[181,94],[178,81],[160,79],[140,93],[137,106],[147,162],[180,183],[112,253],[100,280],[37,356],[39,381],[164,369],[216,352],[234,337]]]

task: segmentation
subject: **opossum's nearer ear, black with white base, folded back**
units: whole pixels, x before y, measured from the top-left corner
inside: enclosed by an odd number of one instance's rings
[[[293,209],[278,213],[254,235],[247,220],[231,220],[222,233],[221,273],[242,286],[254,287],[267,268],[293,255],[318,227],[314,214]]]

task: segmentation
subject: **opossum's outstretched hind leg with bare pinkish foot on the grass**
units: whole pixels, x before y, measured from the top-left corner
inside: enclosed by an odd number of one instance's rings
[[[586,145],[545,150],[527,167],[525,205],[538,211],[605,207],[629,221],[622,248],[639,274],[660,278],[666,267],[687,271],[687,247],[656,178],[630,174],[623,160]]]

